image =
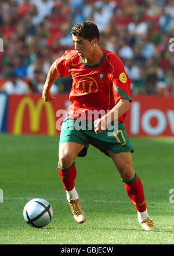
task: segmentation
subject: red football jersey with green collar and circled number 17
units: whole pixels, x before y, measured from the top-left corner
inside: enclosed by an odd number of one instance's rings
[[[89,110],[107,112],[119,99],[132,101],[124,64],[115,53],[102,50],[103,58],[94,66],[86,64],[75,50],[67,50],[57,59],[57,72],[61,77],[71,74],[73,78],[71,105],[67,109],[69,117],[79,117],[77,113],[87,113]],[[124,122],[125,116],[126,113],[119,117],[119,121]]]

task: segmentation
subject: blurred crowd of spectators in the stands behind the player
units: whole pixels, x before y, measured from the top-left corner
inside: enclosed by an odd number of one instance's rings
[[[84,20],[124,62],[133,95],[174,95],[173,0],[0,0],[1,91],[42,92],[50,65],[74,48],[72,26]],[[70,89],[71,77],[60,77],[52,92]]]

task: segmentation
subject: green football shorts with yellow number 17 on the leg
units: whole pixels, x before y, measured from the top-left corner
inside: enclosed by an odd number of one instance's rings
[[[112,122],[111,124],[113,125],[114,123]],[[89,145],[96,147],[107,156],[106,150],[117,153],[128,151],[133,153],[134,149],[126,135],[124,123],[117,121],[117,128],[115,130],[113,125],[113,127],[106,129],[101,134],[96,134],[93,121],[66,118],[61,125],[59,145],[63,142],[75,142],[85,145],[84,149],[79,152],[79,157],[86,156]]]

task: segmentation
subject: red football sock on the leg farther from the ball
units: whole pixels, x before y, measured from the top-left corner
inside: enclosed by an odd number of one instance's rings
[[[144,199],[144,190],[139,177],[135,175],[132,181],[125,182],[126,193],[132,200],[135,208],[139,212],[146,211],[146,201]]]

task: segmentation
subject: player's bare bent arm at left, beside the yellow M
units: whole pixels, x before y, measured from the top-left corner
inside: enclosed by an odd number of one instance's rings
[[[46,81],[44,84],[44,88],[42,91],[42,98],[46,102],[52,102],[55,99],[55,97],[53,97],[53,94],[50,91],[50,89],[58,77],[59,77],[59,73],[57,72],[56,61],[55,61],[52,64],[52,66],[50,66],[50,69],[48,71]]]

